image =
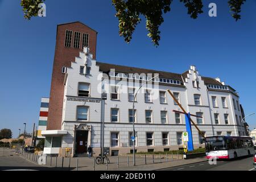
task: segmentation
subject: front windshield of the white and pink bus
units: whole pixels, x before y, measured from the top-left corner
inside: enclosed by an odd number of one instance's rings
[[[209,137],[205,139],[205,149],[209,151],[227,150],[224,137]]]

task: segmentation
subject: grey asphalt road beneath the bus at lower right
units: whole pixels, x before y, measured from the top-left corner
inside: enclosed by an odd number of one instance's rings
[[[253,166],[253,156],[237,160],[217,160],[216,164],[207,162],[188,164],[179,167],[159,169],[158,171],[256,171]]]

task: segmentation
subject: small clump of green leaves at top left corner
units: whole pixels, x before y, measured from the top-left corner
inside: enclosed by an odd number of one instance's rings
[[[21,0],[20,5],[23,7],[24,18],[31,19],[32,16],[38,16],[40,8],[38,5],[45,0]]]

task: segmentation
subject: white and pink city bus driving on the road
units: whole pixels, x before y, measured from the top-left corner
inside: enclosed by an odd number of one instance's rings
[[[255,154],[253,139],[251,137],[206,137],[205,149],[208,159],[233,159]]]

